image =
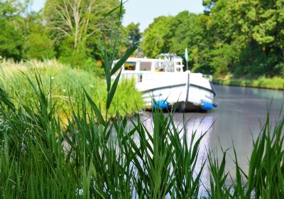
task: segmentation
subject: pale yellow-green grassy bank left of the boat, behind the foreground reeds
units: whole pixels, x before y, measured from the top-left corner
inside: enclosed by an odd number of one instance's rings
[[[0,73],[0,87],[16,104],[35,102],[38,94],[33,90],[31,83],[37,85],[37,81],[40,81],[45,95],[52,97],[63,120],[71,114],[72,106],[76,107],[77,103],[81,102],[82,87],[87,90],[94,103],[102,108],[103,116],[106,115],[107,84],[97,72],[71,68],[70,65],[62,65],[57,60],[31,60],[20,63],[4,60],[0,63]],[[37,80],[36,75],[40,80]],[[87,112],[90,107],[87,105]],[[131,115],[142,108],[143,99],[136,90],[135,83],[131,80],[121,80],[109,109],[109,117],[116,112],[119,112],[121,117],[125,114]]]

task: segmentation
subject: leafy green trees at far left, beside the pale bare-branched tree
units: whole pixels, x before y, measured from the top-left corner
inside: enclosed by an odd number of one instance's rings
[[[30,1],[0,1],[0,55],[14,60],[53,58],[53,41]]]

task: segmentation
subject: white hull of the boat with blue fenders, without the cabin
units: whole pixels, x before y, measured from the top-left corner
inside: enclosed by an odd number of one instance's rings
[[[177,111],[209,110],[214,106],[214,88],[200,73],[151,72],[127,77],[138,79],[136,87],[148,108],[165,108],[164,103]]]

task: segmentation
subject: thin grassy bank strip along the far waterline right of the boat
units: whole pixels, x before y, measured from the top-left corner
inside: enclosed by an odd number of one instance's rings
[[[255,80],[241,80],[241,79],[222,80],[218,78],[213,78],[212,82],[217,85],[284,90],[284,78],[282,77],[272,77],[272,78],[259,77],[258,79]]]

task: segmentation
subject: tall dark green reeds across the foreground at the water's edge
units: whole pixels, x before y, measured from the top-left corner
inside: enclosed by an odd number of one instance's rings
[[[193,132],[188,144],[185,128],[178,129],[173,115],[160,110],[153,111],[153,132],[138,114],[133,120],[117,114],[102,124],[85,93],[70,104],[63,130],[52,98],[40,77],[35,79],[36,85],[30,83],[35,97],[28,102],[15,105],[0,90],[1,198],[198,198],[205,161],[210,186],[204,198],[284,197],[283,117],[271,129],[268,114],[252,143],[249,173],[235,157],[236,179],[230,179],[224,173],[226,151],[218,160],[208,150],[197,166],[204,134]]]

